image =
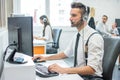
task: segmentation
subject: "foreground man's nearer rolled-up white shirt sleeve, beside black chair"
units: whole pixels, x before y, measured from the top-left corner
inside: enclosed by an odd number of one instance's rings
[[[88,63],[96,72],[102,71],[104,40],[99,34],[91,36],[88,42]],[[101,71],[98,71],[101,70]]]

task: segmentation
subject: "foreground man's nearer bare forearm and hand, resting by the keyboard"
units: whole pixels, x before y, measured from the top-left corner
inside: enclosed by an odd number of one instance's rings
[[[90,66],[83,67],[73,67],[73,68],[63,68],[58,64],[53,64],[48,67],[50,71],[55,71],[61,74],[81,74],[81,75],[92,75],[95,73],[95,70]]]

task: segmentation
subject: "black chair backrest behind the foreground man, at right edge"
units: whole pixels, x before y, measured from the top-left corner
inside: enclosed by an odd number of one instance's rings
[[[104,38],[103,79],[112,80],[113,69],[120,53],[120,38]]]

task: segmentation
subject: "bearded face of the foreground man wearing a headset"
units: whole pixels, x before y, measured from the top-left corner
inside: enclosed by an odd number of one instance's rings
[[[70,11],[70,21],[72,27],[79,27],[81,23],[81,14],[79,8],[72,8]]]

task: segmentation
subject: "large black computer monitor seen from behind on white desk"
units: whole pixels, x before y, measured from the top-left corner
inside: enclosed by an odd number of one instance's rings
[[[33,56],[32,17],[8,17],[9,44],[17,43],[17,51]]]

